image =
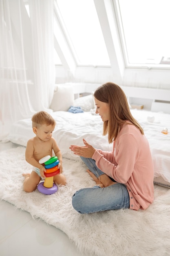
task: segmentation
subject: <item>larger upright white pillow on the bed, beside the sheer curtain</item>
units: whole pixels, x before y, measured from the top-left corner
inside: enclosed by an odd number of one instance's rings
[[[68,111],[74,105],[73,87],[55,85],[53,99],[50,108],[53,111]]]

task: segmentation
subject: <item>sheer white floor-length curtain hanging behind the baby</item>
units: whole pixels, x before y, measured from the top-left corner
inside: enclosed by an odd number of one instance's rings
[[[0,140],[53,97],[53,0],[0,0]]]

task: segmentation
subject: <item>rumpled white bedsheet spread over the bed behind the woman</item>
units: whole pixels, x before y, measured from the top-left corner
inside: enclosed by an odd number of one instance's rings
[[[144,128],[149,141],[155,177],[161,176],[170,182],[170,114],[136,109],[132,109],[131,112]],[[108,151],[113,149],[113,145],[108,144],[107,136],[102,136],[103,122],[98,115],[94,115],[94,112],[73,114],[57,111],[51,115],[57,122],[53,137],[63,157],[75,159],[77,156],[71,152],[69,146],[71,144],[83,146],[83,138],[95,148]],[[154,122],[148,122],[148,117],[154,117]],[[161,133],[164,127],[168,128],[167,135]],[[8,139],[13,143],[26,146],[28,139],[34,136],[31,119],[23,119],[13,124]]]

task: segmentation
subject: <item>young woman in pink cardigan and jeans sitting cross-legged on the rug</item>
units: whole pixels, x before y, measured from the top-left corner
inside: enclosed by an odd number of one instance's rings
[[[124,91],[105,83],[94,93],[96,113],[104,122],[103,135],[113,151],[71,145],[88,166],[96,186],[76,191],[72,204],[79,213],[129,208],[146,209],[154,199],[154,168],[148,140],[130,112]]]

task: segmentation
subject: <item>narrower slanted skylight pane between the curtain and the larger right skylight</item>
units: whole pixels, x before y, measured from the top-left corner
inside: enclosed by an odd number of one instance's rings
[[[92,0],[56,0],[77,65],[110,65]]]

